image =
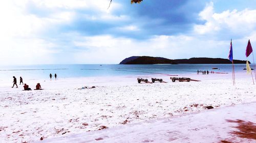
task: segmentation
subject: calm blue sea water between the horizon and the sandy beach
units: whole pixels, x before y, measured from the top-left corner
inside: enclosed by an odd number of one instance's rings
[[[234,65],[236,72],[243,71],[245,64]],[[252,66],[251,66],[252,67]],[[212,68],[218,68],[212,70]],[[131,76],[149,74],[186,74],[197,70],[232,72],[231,64],[178,64],[178,65],[26,65],[0,66],[0,80],[22,76],[24,79],[94,77],[94,76]]]

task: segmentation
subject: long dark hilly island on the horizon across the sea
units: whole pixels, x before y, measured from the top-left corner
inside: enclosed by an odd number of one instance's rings
[[[233,60],[234,64],[246,64],[246,61]],[[145,65],[145,64],[231,64],[228,59],[222,58],[190,58],[171,60],[153,56],[131,56],[120,62],[124,65]],[[250,62],[249,62],[250,64]]]

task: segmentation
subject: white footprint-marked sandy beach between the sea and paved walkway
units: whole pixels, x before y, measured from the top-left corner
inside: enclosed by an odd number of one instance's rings
[[[234,86],[231,74],[182,76],[202,81],[171,82],[169,76],[158,76],[168,83],[153,84],[138,84],[136,76],[25,81],[30,88],[40,82],[42,91],[12,89],[11,81],[1,82],[0,142],[52,138],[119,126],[125,120],[130,124],[205,110],[207,105],[256,101],[256,85],[245,73],[236,74]],[[95,89],[77,90],[93,85]]]

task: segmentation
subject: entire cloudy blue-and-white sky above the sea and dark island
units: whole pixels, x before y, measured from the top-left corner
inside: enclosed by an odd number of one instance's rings
[[[0,65],[119,64],[133,55],[246,60],[254,0],[9,0],[0,3]],[[251,60],[251,57],[249,57]]]

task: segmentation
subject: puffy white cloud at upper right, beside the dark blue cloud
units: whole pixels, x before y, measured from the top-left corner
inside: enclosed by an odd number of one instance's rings
[[[214,12],[214,4],[211,2],[199,14],[203,25],[195,25],[194,30],[198,34],[212,34],[227,30],[233,34],[248,34],[255,31],[256,28],[256,10],[229,10],[222,13]]]

